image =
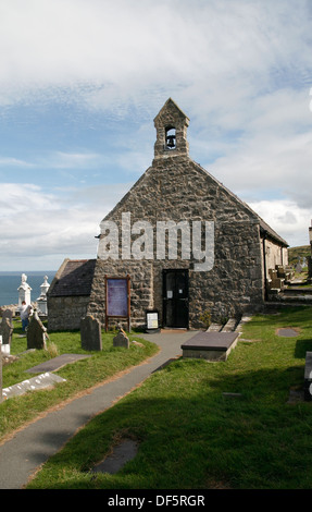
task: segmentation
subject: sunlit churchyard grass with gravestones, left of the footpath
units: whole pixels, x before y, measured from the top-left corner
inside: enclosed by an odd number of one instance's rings
[[[72,399],[75,394],[104,381],[125,368],[140,364],[158,351],[153,343],[130,334],[130,340],[139,341],[143,346],[132,344],[129,350],[113,346],[116,332],[102,331],[102,351],[86,352],[82,349],[79,331],[49,333],[47,350],[26,351],[26,338],[21,338],[21,322],[14,321],[11,343],[11,355],[18,355],[14,363],[3,366],[3,389],[14,383],[35,377],[26,369],[37,366],[55,355],[92,354],[92,357],[68,364],[58,371],[66,382],[58,383],[53,389],[27,392],[21,397],[10,398],[0,404],[0,442],[5,436],[25,423],[33,420],[40,413],[57,404]],[[37,374],[38,375],[38,374]]]

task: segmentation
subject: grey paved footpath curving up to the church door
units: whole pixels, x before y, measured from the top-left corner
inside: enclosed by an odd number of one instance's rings
[[[161,351],[121,377],[38,418],[0,444],[0,489],[23,488],[32,474],[57,453],[78,428],[135,389],[160,366],[182,355],[180,345],[195,334],[196,331],[140,334],[157,343]]]

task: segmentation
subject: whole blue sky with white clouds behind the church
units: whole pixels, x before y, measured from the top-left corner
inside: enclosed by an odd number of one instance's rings
[[[312,219],[311,0],[0,0],[0,270],[95,258],[171,97],[290,246]]]

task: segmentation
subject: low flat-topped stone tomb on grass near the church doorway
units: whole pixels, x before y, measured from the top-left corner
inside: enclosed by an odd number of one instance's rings
[[[226,361],[236,346],[239,332],[199,332],[180,345],[183,357]]]

